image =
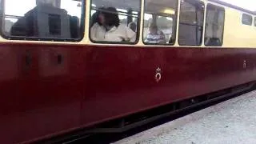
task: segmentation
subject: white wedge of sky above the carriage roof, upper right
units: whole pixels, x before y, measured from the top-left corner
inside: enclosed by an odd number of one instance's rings
[[[256,0],[221,0],[233,4],[235,6],[242,7],[246,10],[256,11]]]

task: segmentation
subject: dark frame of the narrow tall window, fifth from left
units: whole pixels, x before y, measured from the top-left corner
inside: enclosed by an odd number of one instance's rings
[[[225,30],[225,20],[226,20],[226,9],[222,6],[216,6],[214,4],[211,4],[211,3],[208,3],[207,6],[206,6],[206,16],[207,16],[207,10],[208,10],[208,6],[214,6],[217,10],[223,10],[224,11],[224,15],[223,15],[223,27],[222,27],[222,42],[221,42],[221,45],[219,45],[218,47],[220,46],[223,46],[223,40],[224,40],[224,30]],[[207,18],[206,18],[206,22],[207,22]],[[205,26],[204,26],[204,29],[205,29],[205,34],[204,34],[204,45],[205,46],[210,46],[210,45],[206,45],[206,22],[205,22]]]

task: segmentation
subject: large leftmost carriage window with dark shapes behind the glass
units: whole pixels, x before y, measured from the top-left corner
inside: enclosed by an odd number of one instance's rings
[[[10,39],[78,41],[83,37],[82,0],[8,0],[2,34]]]

